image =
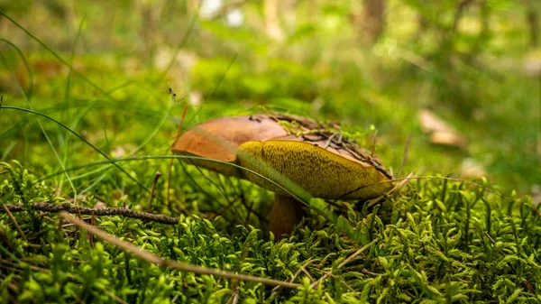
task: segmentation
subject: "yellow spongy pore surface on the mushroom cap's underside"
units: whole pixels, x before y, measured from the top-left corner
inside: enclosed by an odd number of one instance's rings
[[[270,140],[240,145],[236,163],[277,182],[297,184],[315,198],[369,199],[388,191],[391,182],[379,170],[362,161],[352,161],[314,143]],[[268,180],[243,172],[247,180],[284,193]],[[380,183],[378,183],[380,182]],[[374,184],[375,183],[375,184]]]

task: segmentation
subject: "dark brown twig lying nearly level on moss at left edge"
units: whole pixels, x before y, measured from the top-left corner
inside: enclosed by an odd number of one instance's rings
[[[58,213],[61,211],[66,211],[74,214],[80,213],[81,215],[94,214],[94,216],[127,216],[139,218],[145,221],[170,225],[175,225],[179,223],[179,217],[155,215],[147,212],[135,211],[125,207],[76,207],[70,205],[69,203],[58,204],[48,202],[31,203],[28,206],[25,206],[23,204],[5,204],[4,207],[11,212],[22,212],[27,210],[28,207],[30,207],[34,210],[43,212]],[[0,213],[5,212],[5,208],[0,208]]]

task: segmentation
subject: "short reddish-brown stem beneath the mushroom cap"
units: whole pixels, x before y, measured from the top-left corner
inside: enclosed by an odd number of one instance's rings
[[[274,234],[278,242],[282,235],[291,235],[293,228],[300,222],[306,211],[297,199],[288,195],[275,194],[274,204],[269,219],[269,230]]]

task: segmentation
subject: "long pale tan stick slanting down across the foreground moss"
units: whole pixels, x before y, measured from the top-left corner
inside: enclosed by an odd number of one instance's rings
[[[271,286],[279,285],[279,286],[283,286],[287,288],[298,288],[301,286],[300,284],[289,283],[287,281],[278,281],[274,279],[261,278],[261,277],[256,277],[256,276],[252,276],[248,274],[225,272],[222,270],[201,267],[201,266],[197,266],[190,263],[181,263],[181,262],[177,262],[173,260],[164,260],[154,253],[149,253],[148,251],[142,250],[141,248],[137,247],[134,244],[123,241],[115,237],[114,235],[109,235],[105,233],[105,231],[100,230],[99,228],[95,226],[90,226],[84,221],[79,220],[77,217],[72,216],[67,212],[60,212],[60,217],[73,223],[75,226],[78,226],[79,228],[86,230],[90,234],[96,235],[102,240],[109,242],[111,244],[114,244],[119,249],[123,250],[125,253],[132,253],[133,255],[139,257],[140,259],[148,263],[156,264],[160,267],[170,268],[170,269],[178,270],[180,272],[194,272],[197,274],[209,274],[209,275],[215,275],[218,277],[222,276],[229,279],[254,281],[254,282],[271,285]],[[373,243],[373,241],[371,243]]]

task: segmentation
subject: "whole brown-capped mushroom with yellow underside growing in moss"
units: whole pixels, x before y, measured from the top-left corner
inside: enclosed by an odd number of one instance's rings
[[[289,180],[312,197],[325,199],[376,198],[391,187],[381,182],[392,179],[390,173],[370,152],[316,122],[290,115],[215,118],[179,136],[171,150],[215,160],[190,161],[274,191],[269,229],[277,240],[293,231],[305,213],[289,191],[261,176],[280,186]]]

